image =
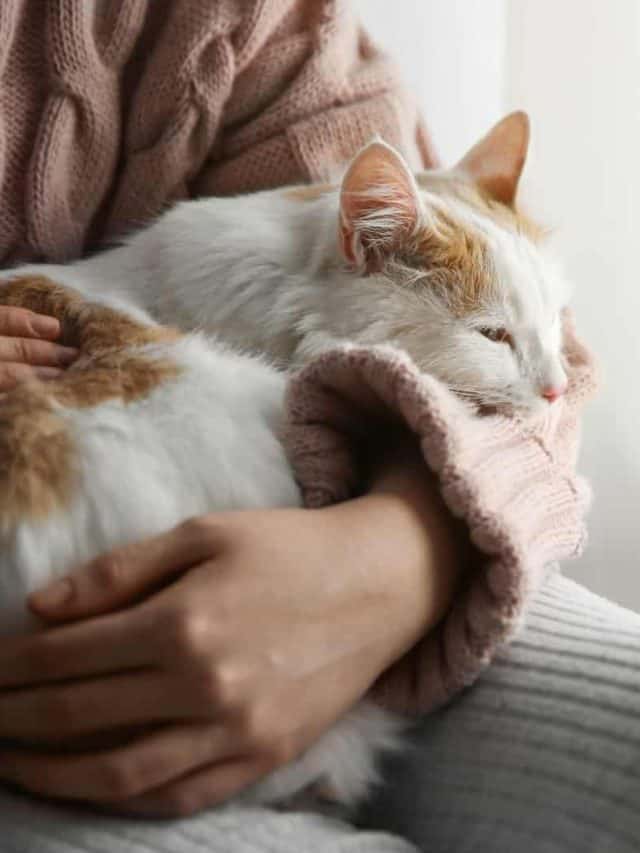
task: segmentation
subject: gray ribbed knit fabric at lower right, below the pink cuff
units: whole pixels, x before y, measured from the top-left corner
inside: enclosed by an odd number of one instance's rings
[[[368,809],[429,853],[640,851],[640,616],[560,576]]]

